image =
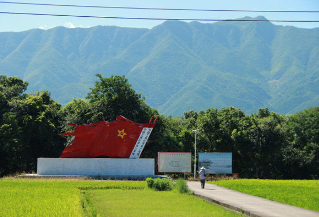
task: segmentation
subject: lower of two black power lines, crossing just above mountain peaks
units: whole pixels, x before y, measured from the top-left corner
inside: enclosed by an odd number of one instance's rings
[[[243,19],[184,19],[184,18],[143,18],[143,17],[106,17],[106,16],[83,16],[68,14],[41,14],[41,13],[18,13],[4,12],[1,14],[38,15],[38,16],[60,16],[60,17],[84,17],[84,18],[107,18],[107,19],[129,19],[129,20],[182,20],[182,21],[247,21],[247,22],[319,22],[319,20],[243,20]]]

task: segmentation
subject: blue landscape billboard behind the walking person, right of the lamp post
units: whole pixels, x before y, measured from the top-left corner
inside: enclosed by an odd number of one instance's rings
[[[205,167],[208,174],[232,174],[232,153],[199,153],[201,167]]]

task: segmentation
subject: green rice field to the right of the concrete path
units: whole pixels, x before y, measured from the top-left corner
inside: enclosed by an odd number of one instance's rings
[[[208,183],[319,212],[319,180],[225,180]]]

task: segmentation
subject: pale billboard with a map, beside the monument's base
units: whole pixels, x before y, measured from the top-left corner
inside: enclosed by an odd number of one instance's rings
[[[191,173],[192,152],[158,152],[159,173]]]

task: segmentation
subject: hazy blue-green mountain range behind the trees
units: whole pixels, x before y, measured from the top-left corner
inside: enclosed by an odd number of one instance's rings
[[[0,33],[0,74],[29,82],[29,92],[48,90],[66,105],[85,98],[96,73],[125,75],[165,115],[229,106],[295,113],[319,106],[319,28],[166,21]]]

